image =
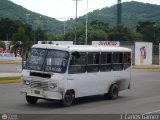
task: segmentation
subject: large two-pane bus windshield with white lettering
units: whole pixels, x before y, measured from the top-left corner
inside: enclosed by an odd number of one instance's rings
[[[68,59],[69,53],[66,51],[33,48],[26,61],[25,69],[65,73]]]

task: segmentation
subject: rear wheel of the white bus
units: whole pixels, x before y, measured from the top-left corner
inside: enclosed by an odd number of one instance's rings
[[[118,94],[119,94],[118,85],[113,84],[109,89],[108,98],[111,100],[114,100],[114,99],[118,98]]]

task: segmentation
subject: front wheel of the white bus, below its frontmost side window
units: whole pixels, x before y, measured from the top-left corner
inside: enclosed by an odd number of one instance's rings
[[[66,93],[65,93],[65,95],[63,96],[63,99],[62,99],[63,106],[64,107],[71,106],[73,101],[74,101],[74,98],[75,98],[74,91],[72,91],[72,90],[66,91]]]

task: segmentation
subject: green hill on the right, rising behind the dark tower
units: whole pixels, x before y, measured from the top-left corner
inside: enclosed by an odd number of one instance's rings
[[[85,23],[85,15],[78,21]],[[108,23],[110,26],[117,24],[117,5],[105,7],[88,13],[88,21],[99,20]],[[122,24],[135,27],[139,21],[154,21],[160,25],[160,5],[141,3],[141,2],[124,2],[122,3]]]

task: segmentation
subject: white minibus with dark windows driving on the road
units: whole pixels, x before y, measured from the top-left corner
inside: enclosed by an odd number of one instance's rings
[[[72,105],[75,98],[104,94],[116,99],[130,89],[131,49],[92,45],[33,45],[22,71],[21,93]]]

